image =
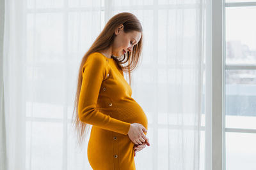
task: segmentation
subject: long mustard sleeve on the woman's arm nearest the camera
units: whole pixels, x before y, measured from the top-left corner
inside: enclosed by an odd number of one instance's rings
[[[130,123],[112,118],[99,110],[96,104],[102,81],[108,74],[108,63],[99,54],[89,55],[83,66],[83,81],[78,102],[78,115],[81,122],[95,125],[108,131],[128,134]]]

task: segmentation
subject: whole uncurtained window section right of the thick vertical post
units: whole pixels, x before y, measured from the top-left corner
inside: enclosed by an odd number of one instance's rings
[[[225,169],[255,169],[256,1],[225,3]]]

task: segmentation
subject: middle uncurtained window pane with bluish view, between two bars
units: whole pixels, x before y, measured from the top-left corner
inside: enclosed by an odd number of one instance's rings
[[[226,71],[226,127],[256,129],[256,71]]]

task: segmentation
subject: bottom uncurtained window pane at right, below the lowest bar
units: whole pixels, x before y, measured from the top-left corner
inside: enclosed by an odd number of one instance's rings
[[[255,170],[256,134],[226,132],[226,170]]]

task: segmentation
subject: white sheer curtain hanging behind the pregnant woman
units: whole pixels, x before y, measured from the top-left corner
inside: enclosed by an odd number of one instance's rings
[[[147,114],[150,146],[136,154],[136,169],[199,169],[203,6],[204,0],[6,1],[0,111],[8,170],[92,169],[89,137],[80,149],[71,131],[77,72],[106,21],[122,11],[144,29],[132,97]]]

